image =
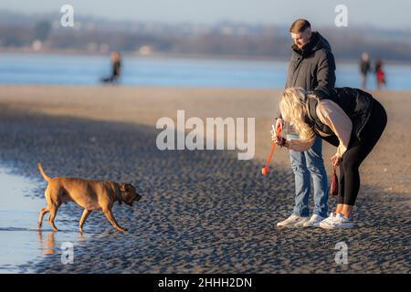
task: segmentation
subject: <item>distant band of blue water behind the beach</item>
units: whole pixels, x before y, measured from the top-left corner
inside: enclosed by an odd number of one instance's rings
[[[110,73],[110,58],[0,54],[0,84],[100,85]],[[281,89],[288,60],[222,60],[124,57],[121,84],[126,86]],[[337,61],[336,87],[361,87],[358,64]],[[409,90],[411,66],[387,64],[386,89]],[[376,89],[369,74],[367,89]]]

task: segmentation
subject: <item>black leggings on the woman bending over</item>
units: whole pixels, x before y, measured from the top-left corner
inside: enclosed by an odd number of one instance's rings
[[[354,205],[360,190],[360,173],[358,169],[380,139],[385,130],[386,120],[386,112],[383,106],[377,100],[374,100],[373,111],[360,134],[360,140],[355,134],[352,134],[347,151],[342,154],[338,203]]]

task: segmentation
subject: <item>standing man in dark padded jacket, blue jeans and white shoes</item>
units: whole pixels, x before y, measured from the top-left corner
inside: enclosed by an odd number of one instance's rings
[[[286,88],[314,90],[335,86],[335,61],[328,41],[318,32],[311,31],[311,24],[305,19],[297,19],[290,27],[294,40],[292,56],[287,75]],[[279,119],[277,125],[283,124]],[[287,137],[289,140],[292,137]],[[309,227],[319,226],[328,213],[328,183],[322,160],[321,139],[309,151],[290,151],[290,160],[295,178],[295,205],[293,213],[278,226]],[[314,210],[310,217],[309,199],[311,177],[314,183]]]

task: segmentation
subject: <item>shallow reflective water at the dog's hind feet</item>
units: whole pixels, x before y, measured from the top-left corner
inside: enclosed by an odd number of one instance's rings
[[[44,218],[42,230],[37,229],[39,210],[46,201],[39,196],[40,183],[13,174],[0,166],[0,273],[33,272],[31,265],[42,256],[62,254],[64,242],[74,246],[90,238],[80,235],[77,224],[64,214],[58,214],[60,231],[53,232]],[[65,224],[68,223],[69,224]]]

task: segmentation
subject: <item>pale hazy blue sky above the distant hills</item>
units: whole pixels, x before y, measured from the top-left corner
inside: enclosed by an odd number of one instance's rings
[[[411,29],[411,1],[407,0],[1,0],[0,9],[59,14],[65,4],[73,5],[75,15],[110,19],[195,24],[229,20],[286,26],[300,17],[313,26],[333,26],[334,8],[342,4],[348,7],[349,26]]]

